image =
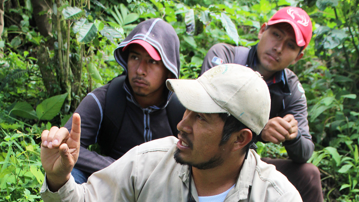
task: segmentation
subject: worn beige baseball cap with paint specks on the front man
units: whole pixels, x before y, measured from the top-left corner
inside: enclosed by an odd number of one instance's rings
[[[260,73],[238,64],[215,66],[198,79],[167,79],[181,104],[199,113],[229,113],[259,134],[267,124],[270,95]]]

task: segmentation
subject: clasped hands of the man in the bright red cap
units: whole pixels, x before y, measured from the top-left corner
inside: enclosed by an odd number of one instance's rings
[[[262,130],[262,139],[267,142],[280,144],[286,140],[292,140],[298,135],[298,121],[292,114],[283,118],[274,117],[269,119]]]

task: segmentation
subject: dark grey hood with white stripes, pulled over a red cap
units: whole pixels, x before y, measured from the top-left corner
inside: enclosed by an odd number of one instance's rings
[[[128,51],[122,51],[129,42],[143,40],[158,50],[165,67],[178,78],[180,72],[180,40],[173,27],[160,18],[149,19],[138,24],[115,49],[114,55],[127,75]]]

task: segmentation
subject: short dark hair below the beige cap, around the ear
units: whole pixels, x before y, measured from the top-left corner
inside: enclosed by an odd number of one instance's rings
[[[227,113],[219,113],[218,115],[224,121],[224,126],[222,130],[222,139],[219,145],[225,144],[228,141],[229,137],[232,135],[232,133],[238,132],[239,130],[245,128],[250,129],[232,115],[229,115]],[[247,151],[248,147],[251,146],[252,142],[256,141],[256,137],[257,134],[252,131],[252,141],[246,145],[246,150],[244,151]]]

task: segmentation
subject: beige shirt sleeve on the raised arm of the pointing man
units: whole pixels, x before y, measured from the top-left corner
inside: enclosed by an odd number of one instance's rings
[[[138,146],[132,148],[111,166],[92,174],[87,183],[77,184],[74,177],[57,192],[51,192],[45,175],[41,187],[44,202],[95,202],[95,201],[136,201]]]

